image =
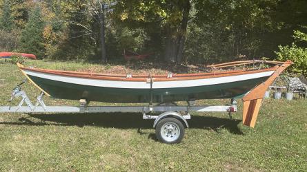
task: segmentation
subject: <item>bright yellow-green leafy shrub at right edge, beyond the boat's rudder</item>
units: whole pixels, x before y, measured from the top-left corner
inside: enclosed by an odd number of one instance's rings
[[[307,36],[304,32],[296,30],[293,37],[307,43]],[[297,43],[292,43],[291,46],[279,45],[279,51],[275,53],[279,61],[293,61],[294,64],[289,68],[290,71],[307,76],[307,47],[299,47]]]

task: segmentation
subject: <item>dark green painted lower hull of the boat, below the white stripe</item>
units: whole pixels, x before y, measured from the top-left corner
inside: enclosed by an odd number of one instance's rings
[[[106,103],[152,103],[186,101],[190,99],[219,99],[240,97],[268,77],[243,80],[233,83],[205,85],[198,87],[181,87],[167,89],[121,89],[110,87],[95,87],[64,83],[36,76],[29,77],[44,89],[52,98],[80,100]],[[151,96],[152,94],[152,96]]]

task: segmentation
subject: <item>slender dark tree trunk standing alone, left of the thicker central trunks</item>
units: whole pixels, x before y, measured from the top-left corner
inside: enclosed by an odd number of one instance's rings
[[[106,57],[106,39],[105,39],[105,13],[104,4],[100,8],[100,49],[101,49],[101,61],[102,63],[107,62]]]

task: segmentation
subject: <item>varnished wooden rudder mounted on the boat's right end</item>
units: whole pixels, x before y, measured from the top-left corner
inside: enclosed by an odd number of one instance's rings
[[[261,106],[262,98],[264,98],[264,93],[268,87],[273,83],[273,81],[284,71],[289,65],[293,64],[292,61],[286,61],[284,64],[279,66],[276,71],[266,80],[254,89],[252,89],[248,94],[246,94],[243,99],[243,124],[249,127],[255,127],[259,109]]]

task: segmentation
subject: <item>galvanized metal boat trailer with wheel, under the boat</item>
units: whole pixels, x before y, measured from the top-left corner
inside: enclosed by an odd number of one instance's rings
[[[23,81],[25,83],[26,80]],[[12,91],[9,101],[21,97],[17,106],[2,106],[0,113],[103,113],[103,112],[137,112],[143,114],[144,120],[155,119],[153,127],[160,142],[178,143],[184,138],[184,129],[188,128],[187,120],[191,118],[190,112],[228,112],[237,111],[237,101],[232,99],[230,105],[224,106],[195,106],[195,100],[188,101],[186,106],[178,106],[175,103],[161,103],[159,105],[144,106],[88,106],[86,100],[81,99],[79,106],[46,106],[43,102],[44,93],[37,96],[37,101],[33,104],[26,92],[21,90],[21,85],[17,85]],[[26,105],[23,105],[25,104]],[[159,115],[156,115],[159,114]]]

